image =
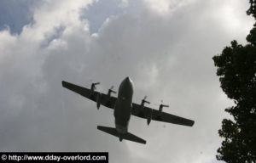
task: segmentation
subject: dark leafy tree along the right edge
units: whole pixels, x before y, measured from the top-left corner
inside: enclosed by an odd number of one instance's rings
[[[256,0],[250,0],[247,14],[256,20]],[[256,24],[247,35],[247,45],[236,40],[212,59],[224,93],[235,102],[225,109],[234,120],[224,119],[218,131],[224,138],[217,160],[256,163]]]

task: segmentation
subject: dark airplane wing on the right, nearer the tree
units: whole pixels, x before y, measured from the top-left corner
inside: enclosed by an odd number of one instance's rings
[[[145,119],[149,118],[150,120],[154,121],[163,121],[183,126],[193,126],[195,123],[195,121],[177,115],[160,112],[159,110],[154,110],[146,106],[142,107],[140,104],[132,104],[131,115],[135,115]]]

